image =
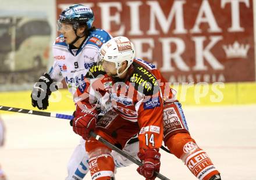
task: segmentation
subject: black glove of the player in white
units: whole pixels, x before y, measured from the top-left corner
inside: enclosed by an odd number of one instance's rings
[[[31,93],[32,106],[40,110],[45,110],[49,106],[49,96],[52,92],[57,91],[58,87],[49,74],[42,75],[38,82],[35,82]]]

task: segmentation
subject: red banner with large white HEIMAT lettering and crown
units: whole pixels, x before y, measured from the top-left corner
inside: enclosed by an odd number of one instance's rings
[[[56,0],[56,17],[73,3],[93,9],[95,27],[129,37],[169,82],[255,81],[252,0]]]

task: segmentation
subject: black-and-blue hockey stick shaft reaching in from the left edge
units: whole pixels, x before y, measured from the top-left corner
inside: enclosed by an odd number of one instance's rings
[[[0,106],[0,110],[11,111],[16,113],[24,113],[24,114],[33,114],[38,116],[55,117],[55,118],[61,118],[66,120],[73,120],[74,118],[74,116],[70,116],[66,114],[49,113],[49,112],[35,111],[35,110],[29,110],[29,109],[19,109],[19,108],[8,107],[8,106]]]

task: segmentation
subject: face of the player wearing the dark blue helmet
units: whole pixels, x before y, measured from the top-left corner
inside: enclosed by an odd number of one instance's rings
[[[58,29],[61,34],[63,34],[66,44],[70,44],[76,39],[76,34],[74,33],[72,24],[60,23],[58,24]]]

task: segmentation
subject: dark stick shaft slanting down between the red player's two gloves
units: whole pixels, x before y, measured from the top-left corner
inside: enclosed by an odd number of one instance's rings
[[[101,138],[101,136],[95,134],[95,132],[91,131],[90,135],[93,136],[95,139],[97,139],[99,142],[104,143],[104,145],[108,146],[109,148],[111,148],[112,150],[115,150],[116,152],[118,152],[119,154],[121,154],[123,157],[126,157],[126,159],[129,159],[131,162],[137,164],[137,165],[143,165],[141,163],[141,161],[135,159],[134,157],[130,156],[129,154],[127,154],[126,152],[124,152],[123,150],[119,149],[118,147],[116,147],[115,145],[112,145],[112,143],[106,141],[104,138]],[[157,177],[159,179],[162,180],[170,180],[168,178],[166,178],[165,176],[163,176],[162,174],[160,174],[159,172],[155,172],[155,174],[157,175]]]

